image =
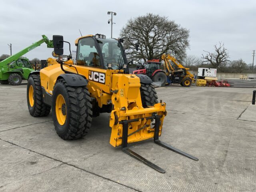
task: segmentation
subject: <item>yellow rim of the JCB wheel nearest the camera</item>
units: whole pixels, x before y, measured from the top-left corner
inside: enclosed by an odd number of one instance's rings
[[[66,103],[64,97],[61,94],[58,94],[56,98],[55,112],[58,123],[60,125],[64,125],[66,121]]]

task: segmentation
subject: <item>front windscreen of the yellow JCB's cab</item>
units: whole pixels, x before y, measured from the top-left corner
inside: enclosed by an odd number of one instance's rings
[[[100,50],[102,51],[105,68],[108,68],[108,63],[112,63],[112,69],[121,69],[124,65],[124,57],[122,47],[118,40],[115,39],[97,39]]]

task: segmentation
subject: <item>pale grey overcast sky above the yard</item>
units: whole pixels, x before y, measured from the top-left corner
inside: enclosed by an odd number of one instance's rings
[[[221,41],[230,60],[242,58],[249,64],[256,49],[256,0],[1,0],[0,4],[0,55],[10,54],[7,44],[12,43],[15,54],[40,40],[42,34],[49,39],[63,35],[72,50],[76,50],[78,29],[82,35],[100,33],[110,38],[107,11],[117,13],[114,38],[128,19],[154,13],[190,30],[188,55],[201,57],[203,50],[212,52]],[[46,59],[51,53],[42,44],[25,56]]]

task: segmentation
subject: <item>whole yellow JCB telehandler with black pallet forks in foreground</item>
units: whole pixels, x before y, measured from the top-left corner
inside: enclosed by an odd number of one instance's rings
[[[92,118],[110,113],[110,144],[144,164],[164,173],[165,170],[128,148],[128,144],[154,138],[154,142],[193,160],[159,140],[166,104],[158,98],[152,80],[139,74],[125,74],[128,67],[122,39],[106,39],[96,34],[76,39],[77,65],[65,64],[63,36],[53,36],[58,63],[32,72],[28,79],[28,110],[32,116],[46,116],[52,108],[57,134],[64,140],[85,136]],[[67,42],[68,43],[68,42]],[[69,44],[70,45],[70,44]]]

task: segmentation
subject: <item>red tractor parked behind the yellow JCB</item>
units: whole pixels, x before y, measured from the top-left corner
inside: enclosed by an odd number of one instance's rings
[[[132,74],[144,74],[149,76],[153,82],[161,82],[161,86],[164,86],[167,81],[167,74],[161,69],[162,63],[159,59],[148,60],[144,64],[138,63],[137,70]]]

